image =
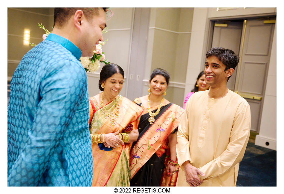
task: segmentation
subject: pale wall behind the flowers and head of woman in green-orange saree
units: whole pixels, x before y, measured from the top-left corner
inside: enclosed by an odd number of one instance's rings
[[[103,52],[105,52],[106,59],[108,59],[109,62],[115,63],[123,68],[125,79],[120,95],[125,96],[128,81],[129,57],[131,54],[130,43],[132,39],[134,8],[111,9],[114,14],[111,18],[106,18],[108,32],[103,34],[103,39],[108,41],[103,45]],[[101,92],[98,87],[98,82],[100,79],[100,70],[103,65],[104,63],[101,63],[100,69],[94,74],[87,73],[89,96],[94,96]]]

